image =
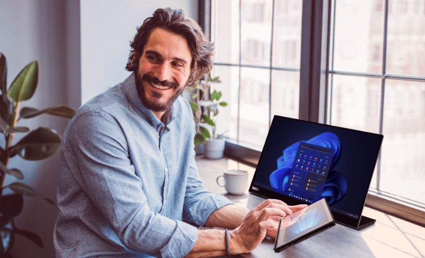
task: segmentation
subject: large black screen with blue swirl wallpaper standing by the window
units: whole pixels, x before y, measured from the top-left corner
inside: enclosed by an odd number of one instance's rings
[[[325,198],[335,222],[362,229],[362,216],[384,136],[273,117],[249,192],[288,205]]]

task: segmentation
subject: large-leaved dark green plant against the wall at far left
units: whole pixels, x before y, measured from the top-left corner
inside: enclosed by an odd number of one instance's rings
[[[43,110],[24,107],[22,101],[30,99],[36,89],[38,80],[38,63],[29,63],[16,76],[10,88],[6,85],[6,57],[0,53],[0,131],[5,137],[5,146],[0,147],[0,256],[11,257],[15,234],[22,235],[43,248],[43,240],[35,233],[23,230],[15,224],[15,217],[23,208],[23,196],[38,196],[55,205],[48,197],[40,195],[31,186],[16,181],[5,185],[6,176],[22,180],[24,175],[19,168],[9,168],[9,160],[20,156],[26,160],[41,160],[52,156],[60,149],[61,136],[52,128],[38,127],[30,132],[29,128],[16,126],[22,118],[30,118],[40,114],[52,114],[71,118],[75,111],[60,105]],[[29,132],[29,133],[28,133]],[[13,143],[15,133],[28,133],[16,144]],[[10,189],[11,193],[5,194]]]

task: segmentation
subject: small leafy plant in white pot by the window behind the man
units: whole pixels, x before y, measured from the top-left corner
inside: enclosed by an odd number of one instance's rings
[[[219,114],[219,106],[227,106],[226,102],[220,101],[221,92],[210,92],[212,83],[220,83],[219,77],[210,77],[201,80],[195,87],[192,101],[189,102],[193,119],[196,124],[195,146],[204,145],[206,158],[223,157],[225,141],[217,134],[216,119]]]

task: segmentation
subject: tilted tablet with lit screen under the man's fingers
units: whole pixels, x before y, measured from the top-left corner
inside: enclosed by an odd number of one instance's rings
[[[274,250],[280,252],[333,226],[335,220],[323,198],[280,220]]]

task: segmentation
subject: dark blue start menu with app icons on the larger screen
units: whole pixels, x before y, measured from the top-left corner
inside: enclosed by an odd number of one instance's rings
[[[320,200],[332,157],[330,148],[300,143],[286,184],[286,194],[309,203]]]

